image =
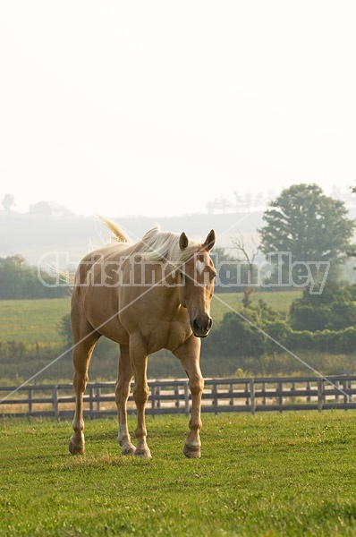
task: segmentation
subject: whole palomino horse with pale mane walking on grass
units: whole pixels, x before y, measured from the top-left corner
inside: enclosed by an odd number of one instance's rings
[[[182,362],[191,388],[190,434],[184,455],[200,456],[199,430],[204,380],[199,367],[200,337],[212,325],[210,301],[216,270],[209,251],[215,243],[212,230],[204,243],[186,234],[148,231],[139,243],[109,220],[115,243],[89,253],[77,269],[72,293],[74,339],[73,386],[76,395],[71,453],[84,453],[83,394],[91,354],[100,336],[120,345],[115,386],[119,434],[123,455],[150,457],[146,443],[145,405],[148,400],[148,354],[165,348]],[[137,406],[137,446],[127,427],[127,399],[131,379]]]

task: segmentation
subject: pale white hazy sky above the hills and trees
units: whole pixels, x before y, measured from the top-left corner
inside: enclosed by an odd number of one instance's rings
[[[356,4],[0,3],[0,201],[203,212],[356,180]]]

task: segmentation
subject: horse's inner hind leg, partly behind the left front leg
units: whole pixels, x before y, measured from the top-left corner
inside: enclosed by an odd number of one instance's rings
[[[117,437],[117,441],[122,447],[121,452],[123,455],[132,455],[135,452],[135,447],[131,444],[131,437],[127,427],[127,399],[130,394],[132,377],[129,347],[127,345],[120,345],[119,374],[115,387],[115,400],[119,419],[119,436]]]

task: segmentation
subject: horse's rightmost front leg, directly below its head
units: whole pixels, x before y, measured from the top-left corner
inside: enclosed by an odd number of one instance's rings
[[[191,432],[185,440],[183,453],[185,456],[199,458],[200,406],[201,394],[204,388],[204,379],[201,375],[199,365],[200,339],[195,336],[189,337],[183,345],[175,349],[174,354],[182,362],[182,367],[188,375],[189,387],[191,389],[191,421],[189,422]]]

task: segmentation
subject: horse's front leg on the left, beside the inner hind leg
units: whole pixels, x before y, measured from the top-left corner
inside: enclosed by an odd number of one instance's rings
[[[131,366],[135,378],[133,398],[137,407],[137,429],[135,431],[137,445],[134,455],[150,458],[151,452],[146,442],[147,429],[145,421],[145,406],[148,400],[147,382],[147,350],[140,336],[130,339]]]

